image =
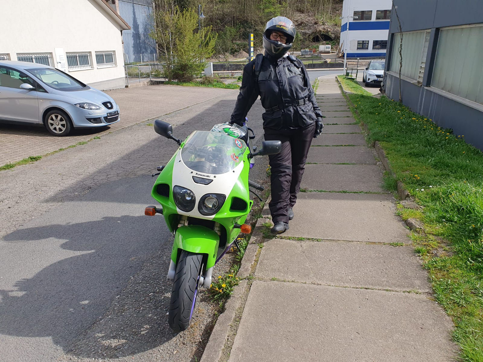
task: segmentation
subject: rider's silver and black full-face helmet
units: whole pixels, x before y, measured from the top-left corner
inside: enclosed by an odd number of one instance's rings
[[[283,33],[287,37],[285,44],[270,40],[270,34],[272,31]],[[267,26],[263,32],[263,47],[265,48],[265,52],[270,56],[280,58],[290,50],[294,39],[295,25],[292,23],[292,20],[285,16],[277,16],[267,22]]]

